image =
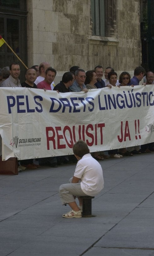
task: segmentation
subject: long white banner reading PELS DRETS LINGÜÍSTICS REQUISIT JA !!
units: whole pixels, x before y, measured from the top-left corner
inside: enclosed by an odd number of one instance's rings
[[[154,142],[154,85],[59,94],[0,90],[3,160],[73,154],[79,139],[91,152]]]

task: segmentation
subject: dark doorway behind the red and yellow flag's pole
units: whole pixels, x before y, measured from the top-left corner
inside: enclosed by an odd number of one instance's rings
[[[27,41],[26,41],[26,1],[2,1],[0,0],[0,34],[8,45],[27,66]],[[0,68],[9,66],[11,62],[19,62],[20,82],[25,80],[26,68],[3,44],[0,47]]]

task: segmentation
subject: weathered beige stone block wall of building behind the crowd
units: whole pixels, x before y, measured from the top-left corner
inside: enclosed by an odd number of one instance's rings
[[[91,35],[90,0],[27,0],[28,66],[48,61],[57,76],[76,65],[132,75],[140,65],[140,0],[106,1],[115,8],[112,38]],[[107,23],[107,10],[105,16]]]

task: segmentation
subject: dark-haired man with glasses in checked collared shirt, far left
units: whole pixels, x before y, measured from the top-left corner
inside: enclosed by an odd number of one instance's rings
[[[20,75],[20,66],[17,62],[13,62],[9,66],[10,75],[3,81],[1,87],[21,87],[19,75]]]

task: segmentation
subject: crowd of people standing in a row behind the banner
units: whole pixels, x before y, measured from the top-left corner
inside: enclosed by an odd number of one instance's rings
[[[96,66],[93,70],[85,72],[79,66],[73,66],[68,72],[63,74],[62,80],[55,85],[56,70],[47,62],[40,65],[34,65],[27,69],[25,81],[20,83],[20,65],[13,62],[9,67],[0,69],[0,86],[1,87],[28,87],[44,90],[56,90],[57,92],[88,92],[89,89],[100,89],[104,87],[112,88],[113,86],[136,86],[143,79],[143,84],[154,84],[154,73],[148,71],[145,75],[145,69],[138,66],[134,70],[133,78],[126,71],[119,76],[112,67],[106,67],[105,71],[101,65]],[[103,79],[104,74],[104,79]],[[145,75],[145,76],[144,76]],[[134,154],[151,153],[154,151],[154,143],[141,146],[134,146],[122,149],[109,150],[108,152],[93,152],[91,155],[96,160],[104,160],[106,158],[121,158],[123,156],[132,156]],[[1,152],[0,152],[1,155]],[[36,169],[40,165],[48,165],[57,167],[63,163],[76,162],[76,158],[72,156],[57,156],[39,158],[39,165],[33,163],[33,159],[21,160],[21,169]]]

